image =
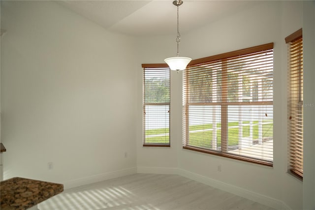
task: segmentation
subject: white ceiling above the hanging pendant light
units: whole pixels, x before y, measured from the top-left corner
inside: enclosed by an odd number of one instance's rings
[[[177,8],[172,0],[61,0],[64,7],[105,29],[126,35],[176,35]],[[179,7],[180,32],[185,33],[261,1],[184,0]]]

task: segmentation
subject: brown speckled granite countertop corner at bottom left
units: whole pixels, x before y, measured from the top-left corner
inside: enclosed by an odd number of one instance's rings
[[[1,210],[26,210],[63,192],[63,184],[14,177],[1,181]]]

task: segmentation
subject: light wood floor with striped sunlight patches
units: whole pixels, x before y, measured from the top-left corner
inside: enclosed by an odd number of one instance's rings
[[[40,210],[273,210],[180,175],[134,174],[65,190]]]

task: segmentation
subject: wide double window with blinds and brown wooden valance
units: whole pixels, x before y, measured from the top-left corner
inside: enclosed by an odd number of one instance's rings
[[[190,62],[183,147],[273,165],[273,43]]]

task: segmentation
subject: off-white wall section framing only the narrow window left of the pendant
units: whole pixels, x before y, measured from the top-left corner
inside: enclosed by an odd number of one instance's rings
[[[151,39],[151,41],[150,41]],[[166,43],[164,42],[166,41]],[[170,51],[176,54],[174,37],[158,36],[154,38],[141,37],[138,46],[138,70],[137,70],[137,166],[139,173],[173,173],[178,166],[177,151],[180,148],[178,140],[181,139],[181,74],[171,71],[171,106],[170,106],[170,140],[171,147],[143,147],[142,132],[142,73],[141,64],[163,63],[165,55]],[[168,44],[168,45],[167,45]],[[170,47],[173,45],[173,48]],[[170,54],[171,55],[171,54]],[[147,169],[150,168],[150,171]],[[158,168],[157,171],[155,169]],[[162,170],[162,171],[161,171]]]

